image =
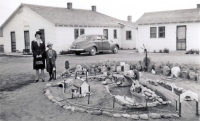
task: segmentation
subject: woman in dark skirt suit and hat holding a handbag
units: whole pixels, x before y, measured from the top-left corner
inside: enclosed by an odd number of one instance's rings
[[[45,44],[40,39],[41,32],[37,31],[35,40],[32,41],[31,49],[33,52],[33,69],[36,70],[36,80],[39,81],[39,69],[41,69],[42,81],[44,82],[44,68],[45,68]]]

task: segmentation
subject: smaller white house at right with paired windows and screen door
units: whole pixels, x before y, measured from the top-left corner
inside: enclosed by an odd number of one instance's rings
[[[200,4],[194,9],[144,13],[136,24],[138,49],[144,44],[157,52],[200,50]]]

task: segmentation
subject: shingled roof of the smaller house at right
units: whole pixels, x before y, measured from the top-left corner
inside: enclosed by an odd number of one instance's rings
[[[200,9],[183,9],[144,13],[137,21],[138,25],[200,22]]]

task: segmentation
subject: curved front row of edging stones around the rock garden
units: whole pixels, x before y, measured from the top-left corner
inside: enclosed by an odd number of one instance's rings
[[[61,97],[54,97],[50,91],[50,87],[52,87],[53,84],[52,83],[47,83],[44,87],[44,93],[47,96],[47,98],[52,101],[54,104],[63,107],[66,110],[71,110],[72,112],[81,112],[81,113],[89,113],[91,115],[105,115],[105,116],[110,116],[110,117],[115,117],[115,118],[129,118],[129,119],[142,119],[142,120],[148,120],[149,118],[151,119],[160,119],[160,118],[179,118],[178,114],[159,114],[159,113],[148,113],[148,114],[127,114],[127,113],[123,113],[123,112],[117,112],[114,110],[103,110],[103,109],[97,109],[97,108],[91,108],[91,107],[86,107],[86,106],[81,106],[78,104],[73,104],[69,101],[67,101],[69,103],[69,105],[64,105],[61,103],[61,101],[63,101],[64,99],[62,99]],[[83,108],[84,107],[84,108]],[[117,113],[115,113],[117,112]]]

